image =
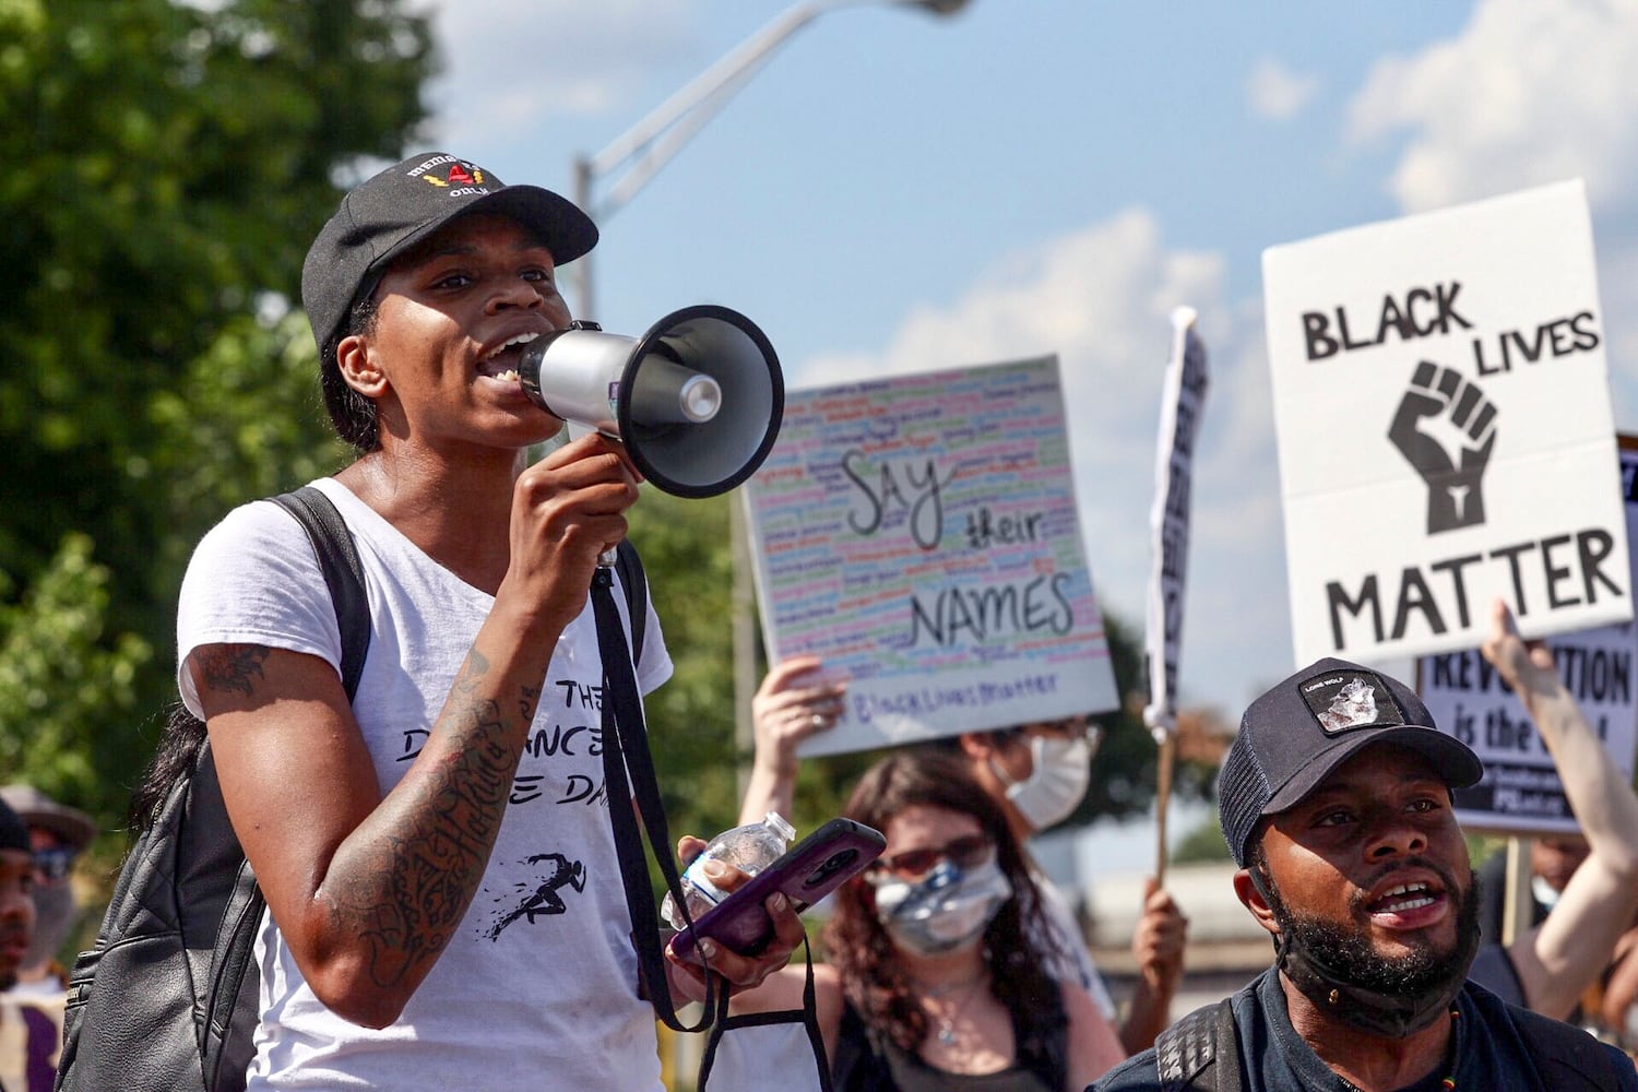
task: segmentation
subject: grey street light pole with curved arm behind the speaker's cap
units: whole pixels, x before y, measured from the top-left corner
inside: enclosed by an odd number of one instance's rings
[[[577,156],[573,160],[575,205],[598,224],[619,211],[716,116],[781,43],[821,15],[837,8],[875,5],[921,8],[942,16],[955,15],[966,3],[968,0],[803,0],[803,3],[786,8],[785,13],[655,106],[642,121],[614,138],[601,152]],[[621,167],[626,167],[626,174],[608,195],[601,200],[595,196],[596,182]],[[577,260],[572,272],[575,314],[595,319],[591,254]]]

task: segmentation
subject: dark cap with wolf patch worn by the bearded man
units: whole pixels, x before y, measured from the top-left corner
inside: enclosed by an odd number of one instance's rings
[[[1346,660],[1319,660],[1253,701],[1217,776],[1217,820],[1245,868],[1263,815],[1294,807],[1371,743],[1405,747],[1453,789],[1484,776],[1479,756],[1433,724],[1417,693]]]

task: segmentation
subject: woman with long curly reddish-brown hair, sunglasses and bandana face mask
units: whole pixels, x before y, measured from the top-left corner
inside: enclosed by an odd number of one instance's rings
[[[1042,902],[1006,815],[950,755],[873,766],[845,812],[886,851],[834,896],[814,968],[837,1092],[1079,1092],[1125,1056],[1109,1022],[1032,938]],[[734,1010],[799,1004],[788,968]]]

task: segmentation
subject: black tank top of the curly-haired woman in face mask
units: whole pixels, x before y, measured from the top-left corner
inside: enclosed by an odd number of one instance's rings
[[[1070,1079],[1070,1020],[1063,997],[1053,995],[1052,1013],[1035,1027],[1019,1027],[1014,1013],[1012,1041],[1017,1045],[1012,1064],[999,1072],[947,1072],[873,1031],[848,1002],[835,1036],[830,1076],[835,1092],[1063,1092]]]

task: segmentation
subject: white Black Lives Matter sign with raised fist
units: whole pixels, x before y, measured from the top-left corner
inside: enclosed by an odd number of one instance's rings
[[[1581,182],[1263,252],[1299,663],[1631,619]]]

